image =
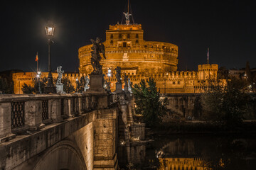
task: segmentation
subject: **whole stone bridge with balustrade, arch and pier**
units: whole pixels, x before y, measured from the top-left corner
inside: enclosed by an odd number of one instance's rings
[[[110,93],[1,95],[0,168],[117,169],[129,106]]]

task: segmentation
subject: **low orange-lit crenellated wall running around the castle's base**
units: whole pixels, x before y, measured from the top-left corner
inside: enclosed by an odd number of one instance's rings
[[[138,73],[137,69],[121,69],[122,79],[124,74],[127,74],[133,84],[139,84],[142,79],[154,78],[156,87],[160,89],[162,94],[169,93],[202,93],[204,86],[203,82],[207,79],[216,79],[218,72],[218,64],[202,64],[198,65],[198,71],[174,71],[174,72],[144,72]],[[64,77],[70,79],[73,86],[76,87],[75,80],[85,74],[63,74]],[[23,94],[21,90],[23,84],[33,86],[36,73],[24,72],[13,74],[14,80],[14,94]],[[43,72],[42,77],[48,77],[48,73]],[[58,74],[53,73],[53,77],[57,78]],[[105,80],[108,82],[109,77],[105,74]],[[115,90],[115,71],[112,70],[112,77],[110,77],[110,89]],[[123,82],[124,86],[124,82]]]

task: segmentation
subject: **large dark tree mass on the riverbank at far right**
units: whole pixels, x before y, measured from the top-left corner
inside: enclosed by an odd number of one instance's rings
[[[205,118],[213,123],[234,128],[251,112],[251,98],[245,81],[231,78],[225,82],[209,80],[202,96]]]

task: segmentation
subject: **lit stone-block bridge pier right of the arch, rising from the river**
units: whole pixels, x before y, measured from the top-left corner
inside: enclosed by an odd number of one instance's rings
[[[117,169],[117,109],[97,111],[94,169]]]

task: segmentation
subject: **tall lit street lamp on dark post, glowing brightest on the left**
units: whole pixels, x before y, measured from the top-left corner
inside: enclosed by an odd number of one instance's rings
[[[53,37],[54,26],[46,26],[46,35],[48,36],[48,78],[47,85],[45,87],[44,93],[46,94],[55,94],[56,89],[53,85],[53,76],[51,74],[51,60],[50,60],[50,45],[53,44],[53,40],[50,40]]]

